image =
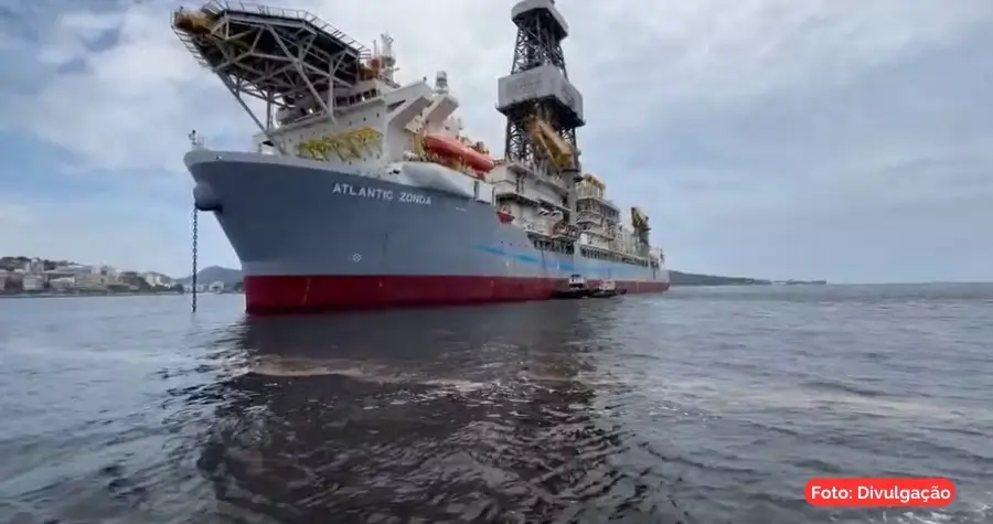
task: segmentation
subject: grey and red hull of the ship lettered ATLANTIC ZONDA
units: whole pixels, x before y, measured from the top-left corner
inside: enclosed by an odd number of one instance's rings
[[[214,212],[242,263],[249,313],[545,300],[572,274],[628,292],[669,288],[664,268],[538,250],[485,197],[301,159],[185,160],[197,206]]]

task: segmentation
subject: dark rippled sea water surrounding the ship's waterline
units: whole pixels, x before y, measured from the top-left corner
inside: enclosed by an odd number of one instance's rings
[[[984,292],[250,322],[231,297],[193,319],[178,299],[19,300],[0,316],[0,520],[993,522]],[[946,475],[959,501],[820,511],[815,475]]]

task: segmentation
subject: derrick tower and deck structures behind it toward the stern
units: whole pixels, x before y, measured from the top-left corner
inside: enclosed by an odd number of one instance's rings
[[[535,245],[578,242],[588,258],[659,266],[649,243],[648,216],[631,208],[631,227],[607,197],[607,185],[580,174],[576,130],[586,120],[583,95],[569,82],[562,41],[568,24],[554,0],[514,6],[517,26],[511,74],[498,81],[496,108],[506,116],[505,162],[488,180],[498,204],[517,218]]]

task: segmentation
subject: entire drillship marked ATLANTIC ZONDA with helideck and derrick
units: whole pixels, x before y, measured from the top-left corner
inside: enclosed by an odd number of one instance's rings
[[[498,81],[504,158],[462,133],[448,76],[402,85],[373,50],[313,14],[210,2],[172,28],[258,126],[253,151],[184,157],[194,205],[242,263],[248,313],[549,299],[570,279],[662,292],[669,271],[606,185],[579,168],[583,97],[553,0],[524,0]],[[260,100],[260,103],[259,103]]]

